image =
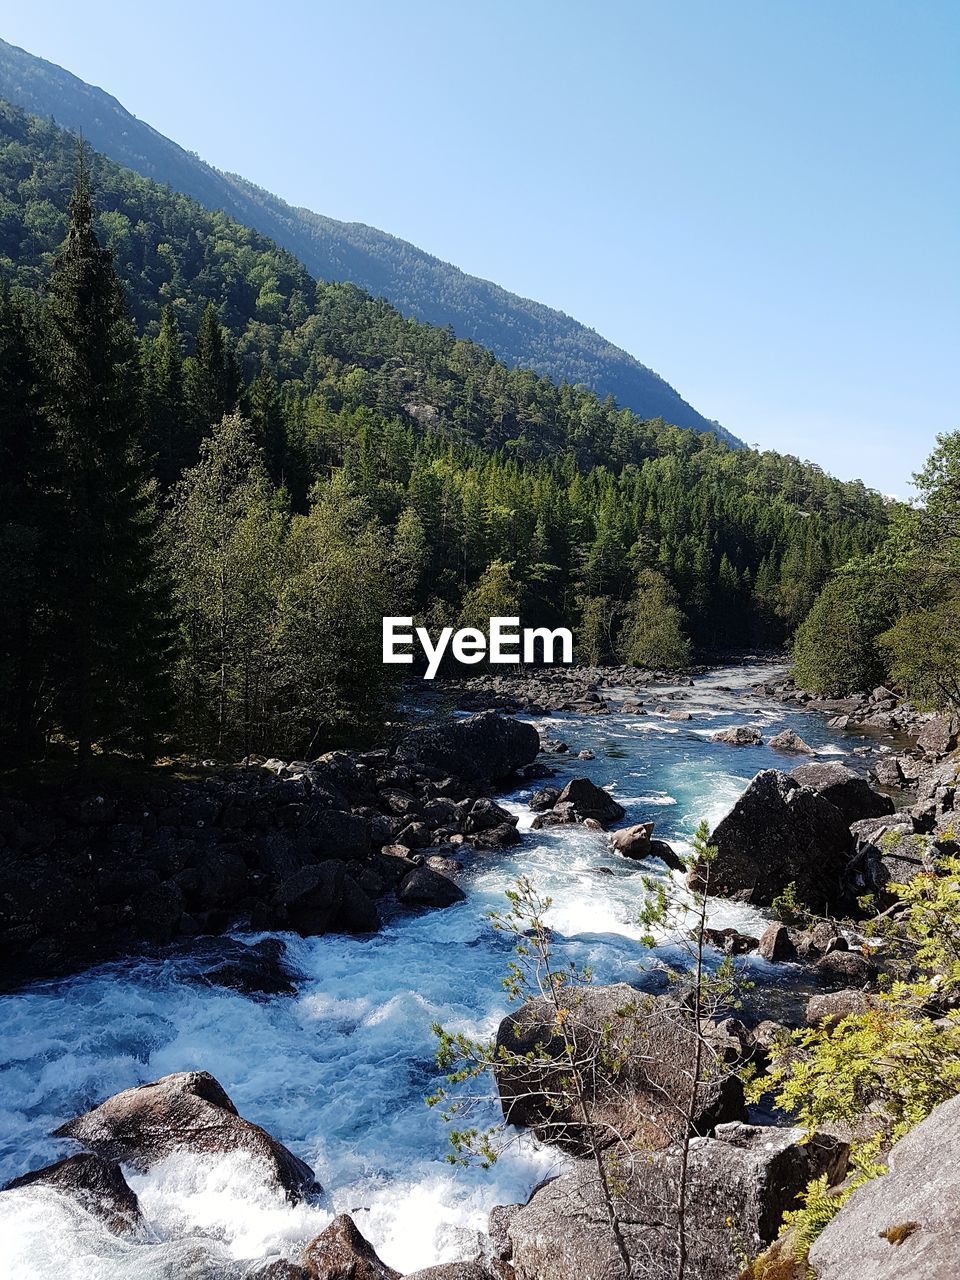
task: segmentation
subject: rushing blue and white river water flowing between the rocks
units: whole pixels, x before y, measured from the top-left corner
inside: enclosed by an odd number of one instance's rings
[[[682,847],[759,769],[792,767],[767,746],[708,741],[716,730],[751,723],[769,737],[792,727],[824,755],[851,751],[856,740],[822,717],[749,698],[760,673],[730,668],[698,680],[668,704],[690,710],[689,723],[653,714],[539,721],[573,751],[595,751],[591,762],[557,756],[561,785],[591,777],[611,787],[627,822],[655,820],[657,835]],[[667,691],[645,694],[648,708]],[[521,827],[529,826],[525,795],[509,797]],[[308,1161],[328,1198],[291,1207],[241,1156],[175,1156],[148,1175],[128,1174],[148,1233],[122,1240],[50,1192],[10,1192],[0,1196],[0,1275],[229,1280],[256,1260],[296,1257],[333,1211],[353,1213],[381,1257],[404,1272],[474,1256],[490,1207],[525,1198],[557,1157],[518,1137],[492,1170],[445,1162],[443,1121],[424,1105],[435,1084],[431,1025],[484,1034],[503,1016],[508,943],[486,915],[521,873],[553,897],[549,924],[564,959],[589,963],[599,982],[636,980],[636,915],[650,868],[613,855],[603,836],[571,828],[531,832],[507,852],[463,860],[468,896],[457,906],[397,914],[369,938],[287,938],[301,974],[296,997],[252,1000],[197,984],[188,954],[124,960],[4,996],[0,1181],[69,1155],[76,1147],[50,1130],[109,1094],[202,1069],[241,1115]],[[613,874],[596,874],[600,867]],[[717,927],[762,925],[753,909],[719,900],[714,908]],[[783,974],[748,963],[760,979]],[[488,1119],[497,1115],[492,1102]]]

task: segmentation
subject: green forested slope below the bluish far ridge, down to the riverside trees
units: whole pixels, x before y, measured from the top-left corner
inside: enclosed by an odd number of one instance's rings
[[[74,137],[0,104],[0,282],[12,285],[0,399],[13,406],[0,595],[50,582],[69,598],[41,614],[24,605],[51,630],[26,650],[28,631],[9,644],[31,660],[56,648],[55,620],[76,604],[55,568],[74,518],[51,515],[74,484],[56,424],[76,413],[64,374],[95,360],[105,371],[78,389],[116,388],[124,448],[156,481],[155,599],[169,591],[173,604],[141,634],[174,627],[175,705],[205,750],[300,750],[324,726],[355,724],[383,686],[387,614],[562,622],[582,660],[657,668],[682,667],[691,644],[782,643],[831,571],[887,527],[859,483],[508,369],[352,284],[317,283],[259,233],[104,157],[92,211],[74,198],[70,212],[78,157]],[[84,337],[68,230],[101,282],[113,356]],[[82,431],[108,428],[91,403]],[[97,448],[105,463],[110,445]],[[106,477],[99,466],[96,483]],[[69,671],[69,649],[58,654]],[[55,682],[41,675],[38,691]],[[0,669],[0,703],[3,684]]]

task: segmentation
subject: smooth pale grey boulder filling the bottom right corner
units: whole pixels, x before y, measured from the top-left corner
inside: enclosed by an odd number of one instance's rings
[[[819,1280],[955,1280],[960,1097],[897,1142],[888,1172],[854,1192],[810,1249]]]

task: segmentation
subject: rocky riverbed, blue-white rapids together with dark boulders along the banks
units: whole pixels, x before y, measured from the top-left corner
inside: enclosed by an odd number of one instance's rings
[[[511,1112],[525,1128],[493,1170],[444,1164],[422,1105],[430,1025],[497,1030],[509,955],[485,913],[529,874],[554,899],[558,959],[593,965],[595,998],[646,992],[663,1074],[617,1087],[628,1116],[646,1114],[676,1089],[678,1050],[658,1004],[675,940],[644,948],[643,883],[684,893],[678,855],[701,817],[727,895],[710,963],[737,955],[758,984],[716,1028],[718,1055],[762,1062],[771,1015],[869,1000],[856,919],[790,929],[769,905],[790,883],[817,909],[845,911],[864,888],[879,905],[891,878],[922,870],[913,836],[947,847],[951,833],[952,744],[937,750],[931,721],[831,726],[852,712],[812,708],[781,677],[754,689],[756,675],[564,673],[522,698],[494,682],[488,701],[520,718],[485,713],[470,682],[456,700],[472,714],[381,751],[4,801],[8,982],[81,969],[4,997],[4,1274],[617,1276],[589,1171],[535,1111]],[[886,700],[858,714],[908,714]],[[481,1119],[498,1114],[493,1096]],[[759,1251],[810,1176],[842,1178],[846,1144],[758,1126],[769,1117],[736,1089],[703,1115],[692,1275],[719,1277],[736,1274],[727,1219]],[[645,1128],[659,1155],[632,1169],[631,1201],[669,1199],[673,1137]],[[650,1231],[627,1224],[640,1274],[666,1276],[669,1233]]]

